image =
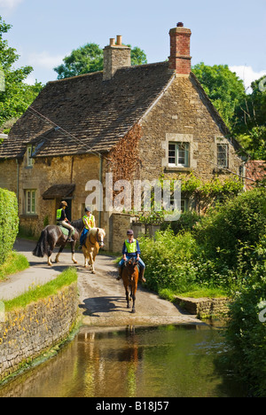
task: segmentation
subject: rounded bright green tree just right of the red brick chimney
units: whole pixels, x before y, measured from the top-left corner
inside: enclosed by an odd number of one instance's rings
[[[246,96],[245,87],[228,65],[208,67],[203,62],[192,67],[201,85],[229,128],[235,122],[235,110]]]

